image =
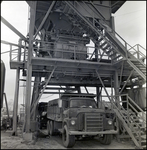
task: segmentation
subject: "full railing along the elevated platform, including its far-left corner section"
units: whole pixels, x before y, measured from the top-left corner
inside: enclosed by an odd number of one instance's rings
[[[87,61],[98,61],[101,59],[110,60],[108,55],[98,50],[98,53],[93,53],[97,47],[93,46],[81,46],[72,43],[57,43],[37,40],[38,45],[33,45],[32,57],[44,57],[41,53],[45,54],[45,57],[50,58],[61,58],[61,59],[74,59],[74,60],[87,60]],[[59,47],[58,47],[59,46]],[[97,58],[97,60],[95,60]],[[20,47],[13,49],[10,45],[10,61],[25,62],[28,59],[28,45],[25,41],[22,41]],[[111,63],[111,61],[109,61]]]

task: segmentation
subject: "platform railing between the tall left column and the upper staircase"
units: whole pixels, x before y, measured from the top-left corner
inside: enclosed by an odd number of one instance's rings
[[[97,61],[101,61],[101,59],[110,60],[108,55],[98,51],[98,53],[94,53],[93,51],[97,47],[74,44],[74,43],[66,43],[66,42],[48,42],[37,40],[38,46],[34,47],[33,57],[42,57],[41,53],[47,53],[44,56],[49,58],[61,58],[61,59],[73,59],[73,60],[93,60],[97,58]],[[111,63],[111,62],[109,62]]]

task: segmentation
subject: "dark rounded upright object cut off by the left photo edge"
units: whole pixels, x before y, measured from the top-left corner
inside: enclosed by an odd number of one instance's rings
[[[5,86],[5,64],[1,60],[1,108],[3,107],[3,93],[4,93],[4,86]]]

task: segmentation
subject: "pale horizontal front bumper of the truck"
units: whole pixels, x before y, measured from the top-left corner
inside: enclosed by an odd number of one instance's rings
[[[69,131],[69,135],[98,135],[98,134],[117,134],[118,130],[107,130],[99,132],[85,132],[85,131]]]

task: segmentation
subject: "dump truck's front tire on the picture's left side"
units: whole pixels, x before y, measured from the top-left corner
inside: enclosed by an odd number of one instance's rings
[[[75,136],[68,134],[67,125],[64,125],[64,127],[63,127],[62,141],[63,141],[63,145],[66,148],[73,147],[75,144]]]

